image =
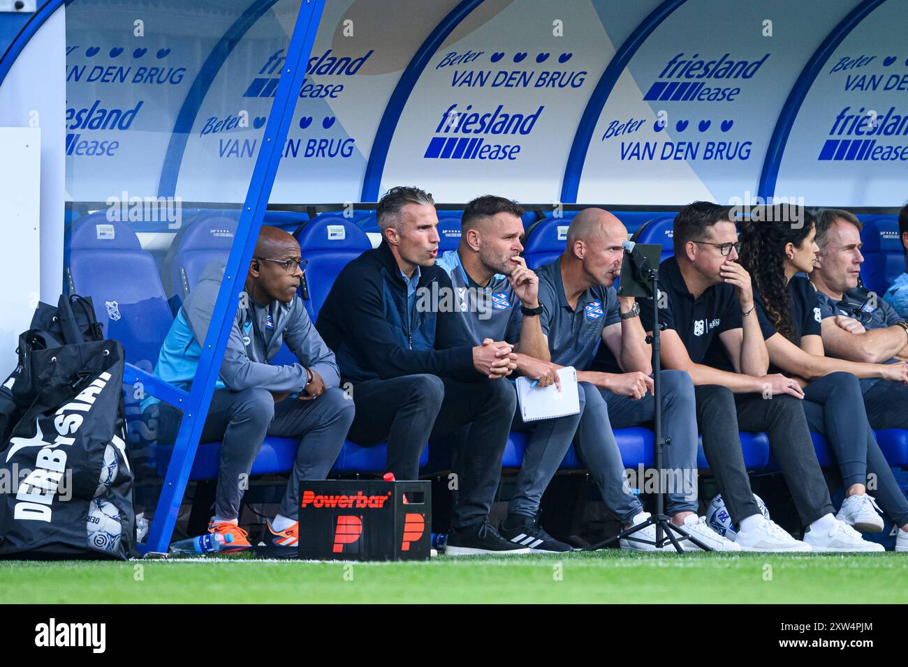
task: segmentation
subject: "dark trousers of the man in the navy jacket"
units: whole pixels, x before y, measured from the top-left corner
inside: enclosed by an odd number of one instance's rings
[[[459,451],[452,457],[459,493],[451,525],[462,528],[486,520],[517,402],[507,380],[460,382],[428,374],[368,380],[353,387],[353,402],[358,414],[350,440],[360,445],[387,440],[388,470],[396,479],[419,479],[426,442],[469,424],[469,435],[459,438]]]

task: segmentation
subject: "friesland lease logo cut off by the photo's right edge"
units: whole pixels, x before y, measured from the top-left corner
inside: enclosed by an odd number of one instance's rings
[[[888,137],[908,136],[908,115],[898,113],[894,106],[890,106],[885,113],[863,106],[856,110],[846,106],[835,116],[829,135],[834,138],[825,140],[817,160],[908,160],[908,144],[892,145],[886,141]]]

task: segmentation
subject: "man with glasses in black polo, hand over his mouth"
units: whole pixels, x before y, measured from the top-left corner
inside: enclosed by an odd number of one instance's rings
[[[756,319],[750,275],[737,262],[741,244],[727,206],[695,201],[678,212],[675,256],[659,265],[664,368],[694,381],[696,417],[709,467],[744,551],[811,551],[765,519],[756,504],[739,430],[766,432],[795,501],[801,525],[827,535],[834,508],[794,379],[768,374],[769,354]],[[641,307],[653,328],[652,302]],[[826,546],[826,537],[814,543]]]

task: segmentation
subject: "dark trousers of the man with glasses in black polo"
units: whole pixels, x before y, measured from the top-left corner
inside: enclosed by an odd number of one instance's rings
[[[695,387],[703,449],[735,524],[760,513],[750,489],[739,431],[765,432],[795,500],[801,525],[834,513],[799,398],[733,394],[728,387]]]

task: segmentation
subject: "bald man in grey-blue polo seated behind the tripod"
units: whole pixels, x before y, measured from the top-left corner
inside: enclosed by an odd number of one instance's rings
[[[568,228],[568,246],[558,260],[538,270],[542,332],[549,358],[558,366],[577,368],[584,409],[577,427],[580,456],[596,480],[608,508],[626,527],[648,518],[624,479],[624,464],[613,428],[653,419],[652,351],[641,326],[640,306],[633,297],[617,296],[612,287],[621,270],[627,229],[614,215],[585,209]],[[590,370],[604,343],[616,372]],[[667,513],[672,522],[701,542],[721,551],[740,548],[716,534],[696,515],[696,414],[694,387],[686,373],[662,371],[662,414],[668,483]],[[654,539],[655,526],[641,531]],[[639,535],[639,534],[638,534]],[[684,543],[686,549],[696,549]],[[649,545],[622,540],[623,548],[650,550]],[[671,544],[666,547],[673,548]]]

